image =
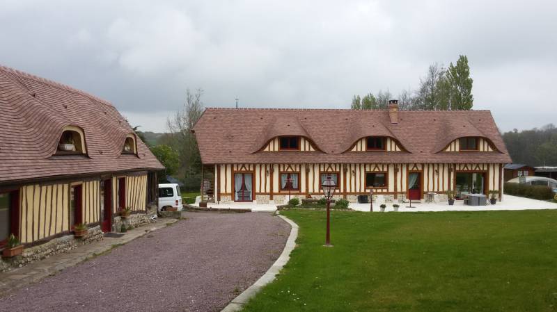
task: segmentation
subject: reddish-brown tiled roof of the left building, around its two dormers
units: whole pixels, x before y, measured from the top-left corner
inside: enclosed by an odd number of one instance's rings
[[[53,156],[64,126],[83,129],[88,156]],[[143,142],[121,154],[132,128],[109,102],[0,66],[0,183],[95,172],[161,170]]]

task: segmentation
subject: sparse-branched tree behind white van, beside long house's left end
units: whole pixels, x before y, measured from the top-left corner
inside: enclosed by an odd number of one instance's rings
[[[197,89],[186,91],[186,101],[182,109],[173,116],[168,117],[167,126],[171,133],[170,140],[166,143],[173,150],[178,151],[180,156],[180,167],[178,176],[182,176],[185,188],[195,190],[201,185],[201,156],[197,141],[191,129],[203,114],[203,103],[201,96],[203,90]]]

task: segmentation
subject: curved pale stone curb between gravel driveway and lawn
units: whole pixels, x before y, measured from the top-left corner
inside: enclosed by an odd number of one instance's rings
[[[292,252],[292,250],[296,247],[296,238],[298,238],[298,224],[283,215],[278,215],[278,217],[281,217],[283,220],[288,222],[288,224],[290,224],[290,235],[288,236],[288,240],[286,240],[286,245],[284,246],[281,256],[276,259],[273,265],[271,265],[271,268],[269,268],[269,270],[267,270],[267,272],[265,272],[262,277],[260,277],[255,283],[253,283],[253,285],[249,286],[249,288],[244,290],[243,293],[232,299],[230,304],[228,304],[228,306],[225,306],[224,309],[221,310],[221,312],[235,312],[242,310],[249,299],[254,297],[259,292],[259,290],[263,288],[263,286],[272,282],[276,277],[276,274],[278,274],[278,272],[281,272],[283,266],[288,263],[288,260],[290,260],[290,252]]]

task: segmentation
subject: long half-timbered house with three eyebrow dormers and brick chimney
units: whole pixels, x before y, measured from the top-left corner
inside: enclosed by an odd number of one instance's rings
[[[336,197],[350,202],[370,190],[501,198],[511,162],[488,110],[399,111],[397,101],[389,110],[207,108],[194,133],[216,202],[321,197],[329,174]]]

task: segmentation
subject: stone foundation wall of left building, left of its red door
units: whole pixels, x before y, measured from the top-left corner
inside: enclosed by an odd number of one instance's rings
[[[11,268],[21,268],[28,263],[40,261],[54,254],[67,252],[80,245],[94,243],[99,240],[102,240],[102,231],[98,225],[88,229],[87,235],[84,238],[75,238],[73,234],[54,238],[47,243],[23,249],[22,254],[19,256],[2,258],[0,261],[0,272],[10,270]]]

